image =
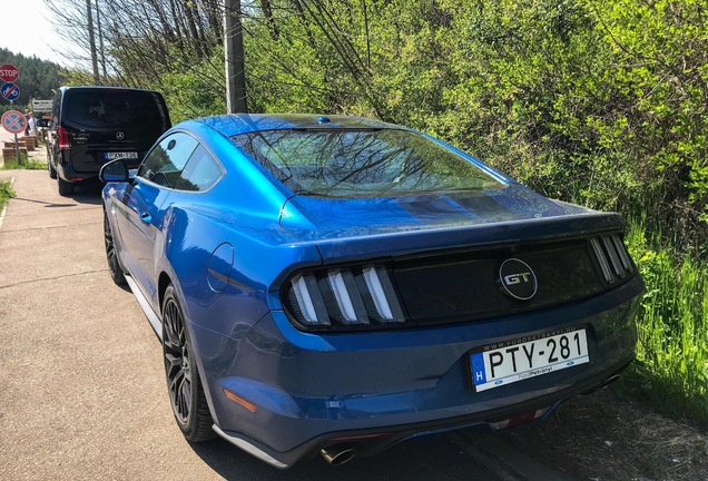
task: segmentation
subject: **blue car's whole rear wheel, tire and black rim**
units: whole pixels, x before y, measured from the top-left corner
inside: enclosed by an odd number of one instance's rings
[[[201,387],[189,331],[171,284],[163,301],[163,357],[169,401],[181,433],[190,442],[214,439],[214,421]]]

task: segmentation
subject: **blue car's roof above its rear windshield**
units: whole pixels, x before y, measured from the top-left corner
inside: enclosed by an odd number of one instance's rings
[[[313,114],[232,114],[196,119],[220,134],[232,137],[264,130],[291,129],[406,129],[380,120],[338,115]]]

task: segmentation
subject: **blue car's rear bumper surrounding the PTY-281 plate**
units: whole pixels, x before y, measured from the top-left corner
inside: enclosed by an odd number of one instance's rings
[[[282,312],[266,315],[240,341],[191,328],[217,432],[285,468],[343,438],[365,436],[347,442],[367,454],[413,435],[551,408],[602,386],[633,359],[642,288],[637,276],[571,305],[424,330],[315,335],[295,330]],[[484,392],[470,387],[470,350],[579,325],[588,328],[590,363]],[[228,400],[225,389],[257,411]]]

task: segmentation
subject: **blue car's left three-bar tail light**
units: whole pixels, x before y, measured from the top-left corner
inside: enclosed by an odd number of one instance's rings
[[[301,273],[284,297],[291,318],[305,330],[392,327],[405,321],[383,266]]]

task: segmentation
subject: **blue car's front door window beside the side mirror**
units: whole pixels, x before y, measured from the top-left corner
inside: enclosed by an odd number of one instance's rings
[[[197,140],[187,134],[176,132],[165,137],[145,158],[138,169],[138,177],[174,188],[196,147]]]

